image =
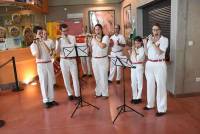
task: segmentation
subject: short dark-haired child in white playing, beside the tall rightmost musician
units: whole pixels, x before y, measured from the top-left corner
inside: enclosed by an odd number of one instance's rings
[[[132,87],[132,100],[131,103],[138,104],[142,102],[142,89],[143,89],[143,75],[144,75],[144,60],[145,53],[142,38],[136,36],[134,38],[134,45],[130,53],[130,58],[133,66],[131,68],[131,87]]]

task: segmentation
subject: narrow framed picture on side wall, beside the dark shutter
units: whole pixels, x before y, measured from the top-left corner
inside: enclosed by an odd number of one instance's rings
[[[132,24],[131,24],[131,4],[123,8],[123,22],[124,22],[124,36],[126,39],[130,37],[132,33]]]

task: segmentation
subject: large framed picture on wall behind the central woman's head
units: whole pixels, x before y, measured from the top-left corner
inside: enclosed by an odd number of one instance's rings
[[[96,24],[101,24],[104,34],[112,34],[115,25],[114,10],[92,10],[88,12],[88,16],[90,32],[93,32],[93,28]]]

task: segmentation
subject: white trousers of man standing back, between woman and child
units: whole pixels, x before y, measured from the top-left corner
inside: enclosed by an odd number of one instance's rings
[[[111,56],[121,56],[123,53],[121,52],[112,52],[111,51]],[[117,76],[116,76],[116,80],[120,80],[121,79],[121,67],[120,66],[115,66],[112,63],[112,60],[110,60],[110,74],[109,74],[109,80],[112,81],[115,75],[115,72],[117,70]]]

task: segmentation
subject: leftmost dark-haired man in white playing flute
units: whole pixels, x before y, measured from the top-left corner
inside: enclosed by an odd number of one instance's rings
[[[36,34],[36,39],[31,44],[30,49],[32,55],[36,57],[37,72],[44,106],[50,108],[58,105],[54,101],[53,79],[51,74],[53,64],[51,62],[50,50],[42,39],[42,27],[35,26],[33,32]]]

